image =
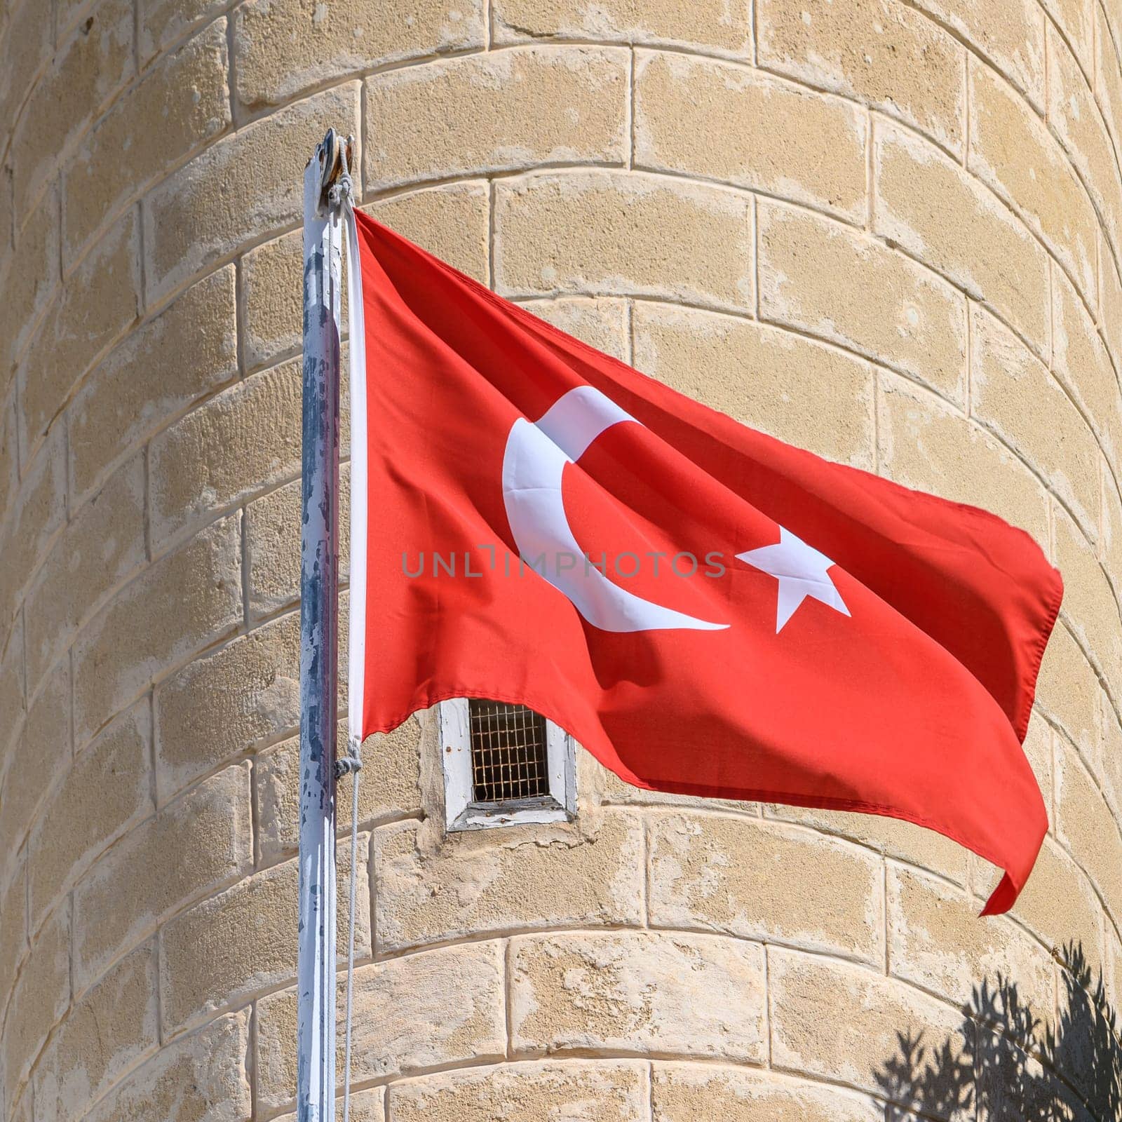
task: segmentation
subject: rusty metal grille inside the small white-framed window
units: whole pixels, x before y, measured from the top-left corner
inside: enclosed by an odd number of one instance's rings
[[[550,793],[545,718],[524,705],[468,703],[471,724],[471,798],[507,802]]]

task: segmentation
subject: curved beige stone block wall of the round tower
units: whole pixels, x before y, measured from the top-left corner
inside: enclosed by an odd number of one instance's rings
[[[587,757],[573,826],[445,838],[432,720],[368,745],[357,1116],[1118,1118],[1120,50],[1114,0],[0,4],[2,1118],[293,1109],[329,125],[453,265],[1067,582],[1002,919],[934,834]]]

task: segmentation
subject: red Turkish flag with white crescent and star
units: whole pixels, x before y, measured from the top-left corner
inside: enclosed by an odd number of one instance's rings
[[[1032,540],[737,424],[356,217],[352,735],[526,705],[638,787],[938,830],[1004,870],[1005,911],[1047,830],[1021,741],[1063,585]]]

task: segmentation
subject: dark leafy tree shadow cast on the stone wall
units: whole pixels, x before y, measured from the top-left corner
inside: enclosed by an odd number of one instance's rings
[[[1001,975],[975,986],[959,1048],[925,1047],[899,1034],[900,1051],[876,1080],[893,1102],[938,1119],[984,1122],[1122,1120],[1122,1047],[1102,975],[1082,946],[1064,948],[1066,993],[1055,1026],[1043,1026]],[[1060,1074],[1057,1074],[1060,1073]]]

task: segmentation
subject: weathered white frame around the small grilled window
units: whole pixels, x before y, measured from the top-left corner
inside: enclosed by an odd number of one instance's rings
[[[444,828],[480,830],[527,822],[564,822],[577,816],[577,751],[572,737],[545,721],[550,793],[533,799],[473,802],[471,799],[471,723],[467,698],[441,701],[440,757],[444,771]]]

